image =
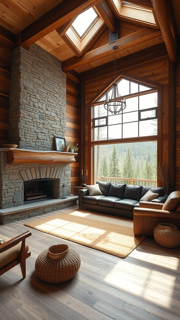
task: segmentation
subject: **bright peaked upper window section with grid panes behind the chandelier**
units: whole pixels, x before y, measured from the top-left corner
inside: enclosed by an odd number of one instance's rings
[[[127,107],[116,115],[104,108],[111,88],[97,99],[98,104],[93,106],[93,140],[157,135],[157,90],[122,78],[118,89],[121,98],[126,98]]]

